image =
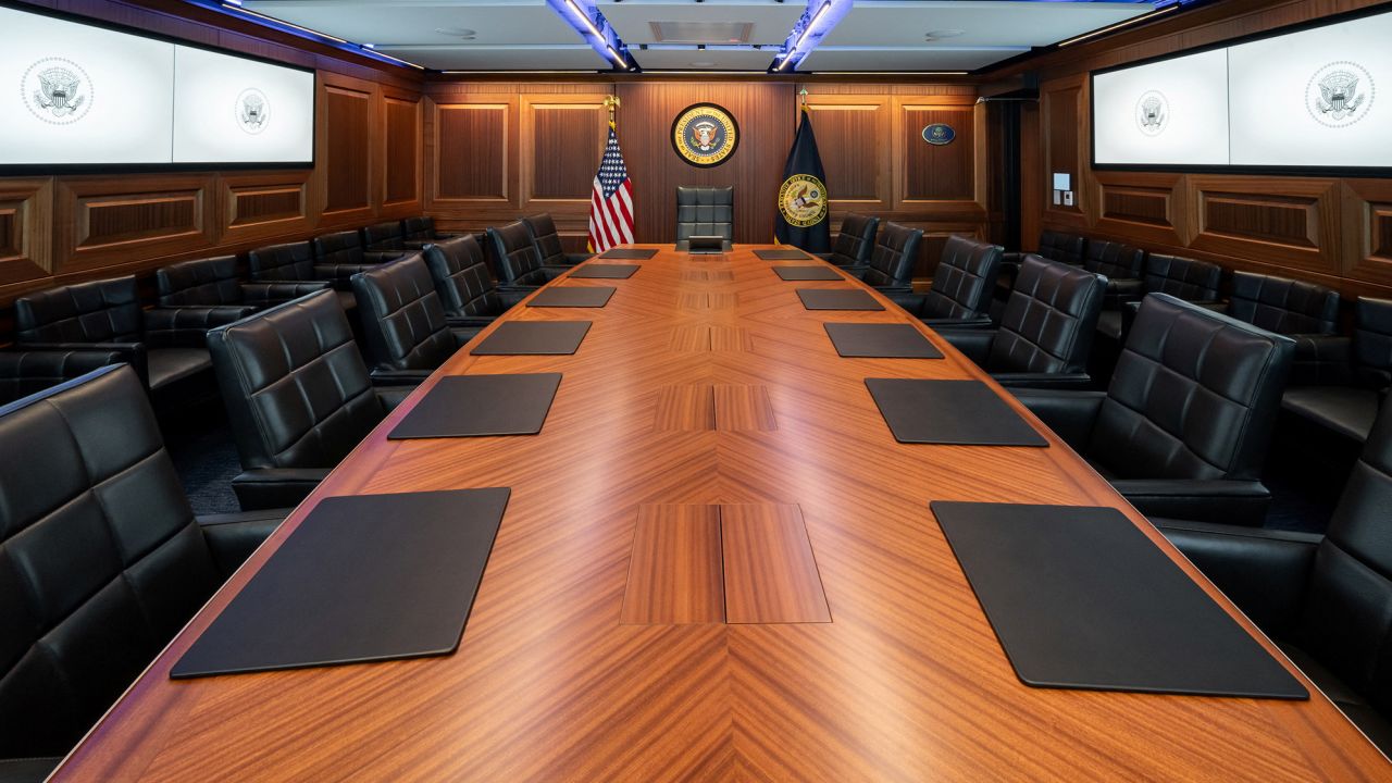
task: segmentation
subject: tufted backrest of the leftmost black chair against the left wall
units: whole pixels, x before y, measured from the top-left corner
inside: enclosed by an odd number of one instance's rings
[[[14,323],[19,343],[139,343],[145,316],[129,276],[21,297]]]

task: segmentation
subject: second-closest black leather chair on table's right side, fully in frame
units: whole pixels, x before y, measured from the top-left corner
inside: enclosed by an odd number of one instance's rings
[[[1107,392],[1016,396],[1144,514],[1261,524],[1293,341],[1168,294],[1141,300]]]

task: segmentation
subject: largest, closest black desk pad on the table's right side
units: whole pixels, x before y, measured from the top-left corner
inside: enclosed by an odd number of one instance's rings
[[[1310,698],[1121,511],[931,507],[1025,684]]]

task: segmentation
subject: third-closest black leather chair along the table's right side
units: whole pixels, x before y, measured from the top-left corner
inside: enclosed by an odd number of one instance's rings
[[[997,329],[940,334],[1005,386],[1086,386],[1107,277],[1026,255]]]

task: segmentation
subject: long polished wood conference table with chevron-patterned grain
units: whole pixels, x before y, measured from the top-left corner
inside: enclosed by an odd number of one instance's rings
[[[1048,449],[896,443],[864,378],[987,376],[927,330],[945,359],[839,358],[824,322],[916,323],[887,300],[884,312],[814,312],[795,294],[859,281],[784,283],[771,266],[796,262],[760,261],[748,245],[717,256],[664,245],[633,263],[642,269],[629,280],[551,283],[615,287],[601,309],[516,307],[500,319],[593,320],[575,355],[462,350],[436,372],[209,602],[56,777],[1392,775],[1303,676],[1310,701],[1022,684],[930,500],[1121,509],[1275,648],[1027,412]],[[564,373],[540,435],[387,440],[440,378],[507,372]],[[323,497],[487,486],[512,488],[512,497],[454,655],[168,679]]]

